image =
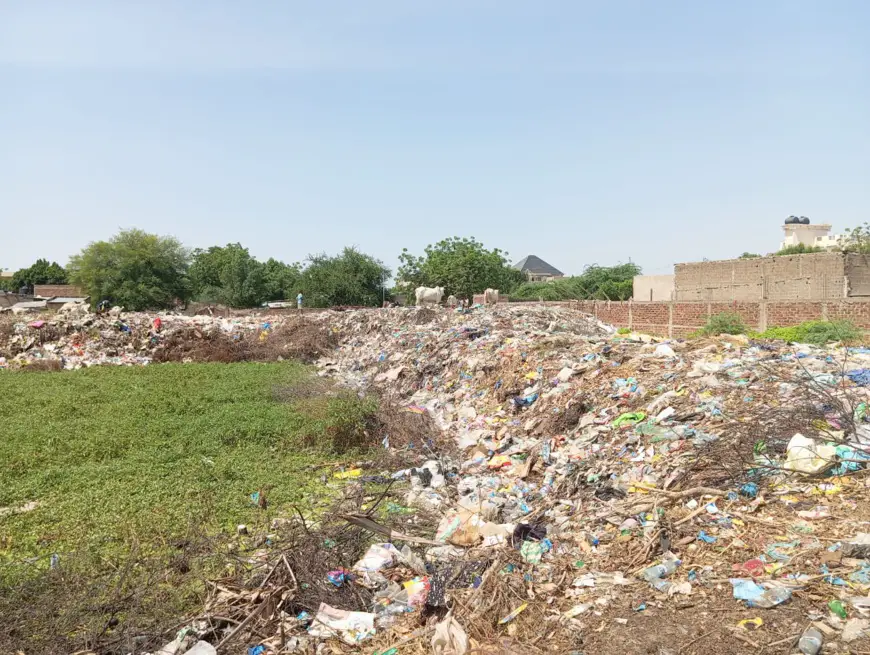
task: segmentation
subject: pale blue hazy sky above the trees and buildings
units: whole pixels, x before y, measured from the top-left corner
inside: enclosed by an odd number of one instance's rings
[[[0,267],[119,227],[565,272],[870,220],[864,0],[0,0]]]

